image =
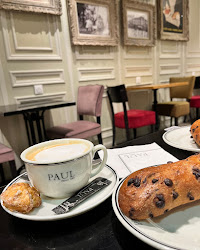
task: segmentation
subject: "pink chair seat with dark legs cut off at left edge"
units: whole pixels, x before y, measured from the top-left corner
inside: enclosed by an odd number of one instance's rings
[[[2,182],[5,181],[5,175],[3,171],[3,163],[9,162],[12,177],[17,176],[17,170],[15,165],[15,156],[11,148],[0,143],[0,173],[2,177]]]

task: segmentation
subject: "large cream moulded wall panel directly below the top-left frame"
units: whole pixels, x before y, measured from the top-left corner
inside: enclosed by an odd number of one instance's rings
[[[2,12],[3,37],[8,60],[61,60],[54,16]],[[23,25],[26,22],[29,25]]]

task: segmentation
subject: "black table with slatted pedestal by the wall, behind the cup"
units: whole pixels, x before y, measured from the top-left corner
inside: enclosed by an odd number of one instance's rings
[[[17,104],[0,106],[0,116],[11,116],[22,114],[26,126],[26,133],[29,145],[34,145],[46,139],[44,112],[48,109],[69,107],[75,102],[54,101],[51,103],[40,103],[27,107],[20,107]],[[34,126],[35,122],[35,126]]]

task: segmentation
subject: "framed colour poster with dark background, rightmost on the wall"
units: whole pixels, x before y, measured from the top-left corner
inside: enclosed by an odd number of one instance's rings
[[[189,40],[188,0],[157,0],[158,33],[161,40]]]

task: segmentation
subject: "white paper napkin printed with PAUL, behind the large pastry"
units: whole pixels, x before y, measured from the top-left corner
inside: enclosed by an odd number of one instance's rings
[[[107,165],[112,167],[123,178],[130,173],[150,166],[165,164],[178,159],[161,148],[157,143],[140,146],[128,146],[124,148],[107,149]],[[99,151],[100,158],[103,152]]]

